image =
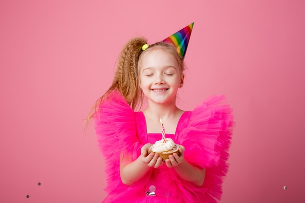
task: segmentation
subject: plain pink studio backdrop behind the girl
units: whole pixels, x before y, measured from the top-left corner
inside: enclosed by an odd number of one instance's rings
[[[83,119],[129,38],[193,21],[179,107],[226,94],[234,108],[222,202],[305,201],[305,1],[187,2],[0,1],[1,203],[100,203],[104,162]]]

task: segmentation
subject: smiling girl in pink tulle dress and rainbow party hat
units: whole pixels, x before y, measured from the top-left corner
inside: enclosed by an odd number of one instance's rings
[[[108,196],[103,203],[216,203],[221,199],[232,111],[228,105],[217,105],[224,96],[212,96],[193,111],[176,106],[192,25],[152,45],[133,38],[121,51],[113,83],[89,116],[95,119],[106,164]],[[143,95],[148,108],[135,112],[142,107]],[[166,137],[180,147],[165,161],[150,152],[161,139],[160,119]]]

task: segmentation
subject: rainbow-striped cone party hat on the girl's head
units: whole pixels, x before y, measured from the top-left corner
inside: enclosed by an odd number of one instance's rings
[[[164,42],[170,42],[177,48],[178,54],[184,58],[187,52],[189,40],[191,37],[191,30],[193,29],[194,23],[189,24],[185,28],[179,30],[178,32],[172,34],[170,37],[163,39]]]

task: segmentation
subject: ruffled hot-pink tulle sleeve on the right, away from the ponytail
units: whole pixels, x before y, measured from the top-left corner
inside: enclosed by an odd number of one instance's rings
[[[228,172],[233,114],[229,105],[219,105],[225,96],[211,96],[194,111],[186,128],[179,133],[185,159],[206,168],[202,186],[212,199],[221,199],[222,183]],[[205,199],[208,197],[206,196]]]

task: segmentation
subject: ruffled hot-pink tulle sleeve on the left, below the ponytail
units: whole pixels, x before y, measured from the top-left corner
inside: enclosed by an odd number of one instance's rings
[[[104,156],[108,193],[125,188],[119,171],[119,157],[123,150],[137,142],[134,112],[119,91],[109,92],[95,112],[98,146]]]

